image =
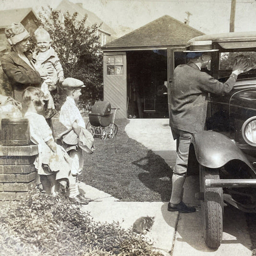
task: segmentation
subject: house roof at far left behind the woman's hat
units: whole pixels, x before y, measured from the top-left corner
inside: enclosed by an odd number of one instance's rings
[[[29,12],[33,12],[33,14],[37,17],[37,14],[33,11],[32,8],[0,11],[0,28],[8,27],[13,22],[22,22],[24,18],[29,14]]]

